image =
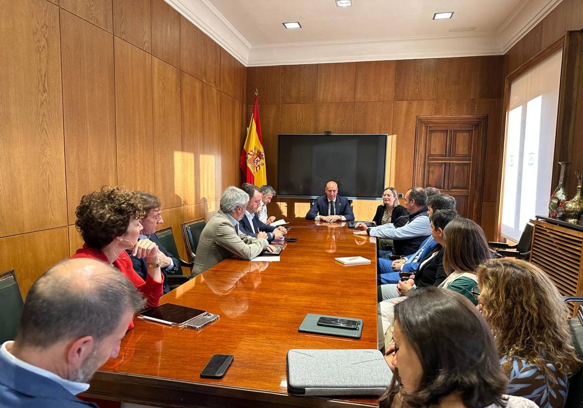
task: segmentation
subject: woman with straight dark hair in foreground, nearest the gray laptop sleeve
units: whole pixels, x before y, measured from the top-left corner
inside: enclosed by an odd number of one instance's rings
[[[504,395],[507,378],[490,328],[459,293],[434,286],[412,291],[395,306],[394,339],[385,356],[395,373],[389,392],[401,389],[402,406],[536,407]]]

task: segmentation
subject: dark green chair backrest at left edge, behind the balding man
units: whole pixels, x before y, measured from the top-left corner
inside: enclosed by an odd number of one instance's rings
[[[14,270],[0,274],[0,343],[14,340],[23,306]]]

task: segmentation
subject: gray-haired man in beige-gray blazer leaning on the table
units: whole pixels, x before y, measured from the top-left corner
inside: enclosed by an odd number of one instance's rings
[[[220,196],[220,210],[210,217],[202,230],[196,248],[192,275],[199,275],[211,266],[237,255],[252,259],[264,249],[275,251],[265,238],[253,238],[239,230],[239,221],[245,216],[249,195],[233,185]]]

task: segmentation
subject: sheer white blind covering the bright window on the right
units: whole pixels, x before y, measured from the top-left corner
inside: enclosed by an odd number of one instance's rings
[[[501,233],[512,241],[535,214],[548,212],[562,55],[555,52],[510,84]]]

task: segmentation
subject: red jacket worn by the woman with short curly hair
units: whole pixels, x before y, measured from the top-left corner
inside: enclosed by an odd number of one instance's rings
[[[87,247],[87,244],[83,244],[83,248],[77,249],[77,252],[71,258],[92,258],[109,263],[106,254],[99,249]],[[142,296],[146,299],[146,307],[158,305],[160,296],[162,296],[164,282],[156,282],[150,275],[147,275],[146,282],[144,282],[142,277],[135,272],[132,260],[125,251],[122,251],[120,256],[115,259],[113,266],[119,269],[129,279],[129,282],[133,283],[136,289],[142,293]],[[129,322],[128,330],[133,328],[134,322]]]

